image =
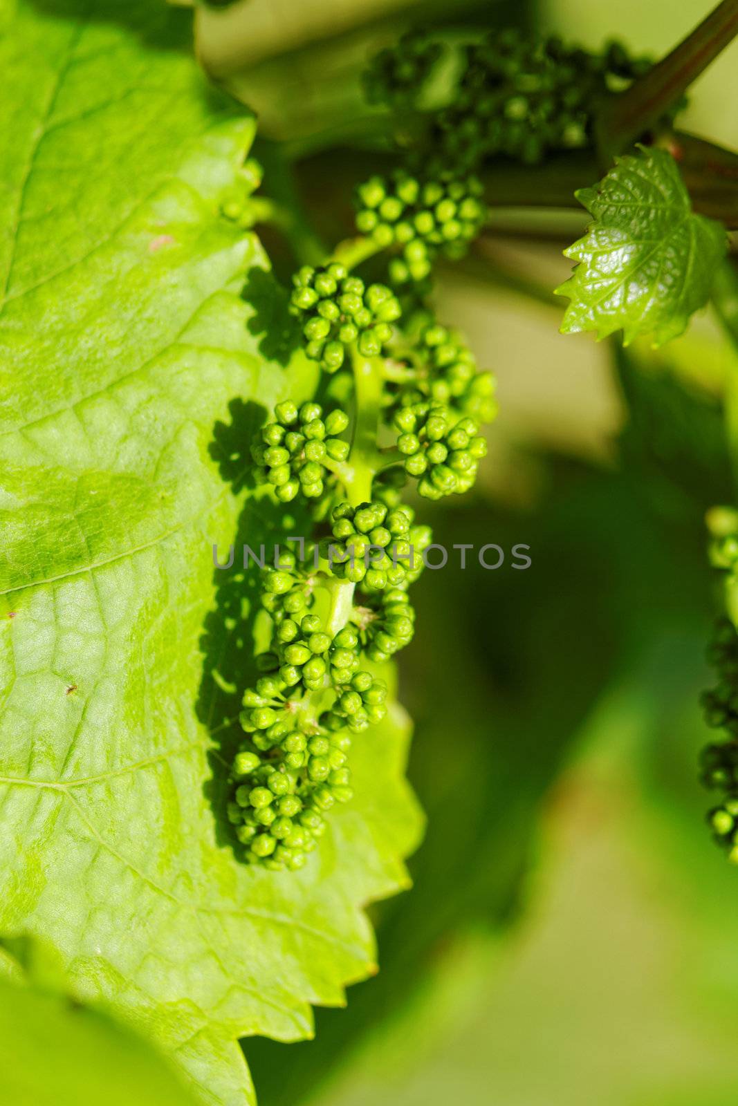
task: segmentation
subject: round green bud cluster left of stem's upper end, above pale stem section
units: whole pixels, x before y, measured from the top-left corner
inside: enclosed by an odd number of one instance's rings
[[[392,323],[401,315],[397,298],[384,284],[350,276],[337,262],[318,269],[303,265],[294,275],[292,312],[306,316],[302,326],[305,353],[326,373],[343,365],[354,343],[364,357],[375,357],[392,337]]]

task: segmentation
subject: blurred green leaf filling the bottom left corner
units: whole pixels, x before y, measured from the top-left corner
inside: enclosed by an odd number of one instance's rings
[[[23,942],[24,945],[27,942]],[[56,985],[30,942],[23,972],[0,978],[0,1096],[13,1106],[194,1106],[160,1056],[103,1010]]]

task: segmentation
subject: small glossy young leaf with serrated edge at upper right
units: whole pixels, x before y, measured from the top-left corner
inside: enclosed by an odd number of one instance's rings
[[[616,158],[576,198],[594,222],[564,250],[579,264],[557,289],[571,300],[562,332],[604,338],[622,330],[625,345],[646,334],[656,346],[682,334],[708,300],[727,239],[720,223],[693,212],[672,155],[644,148]]]

